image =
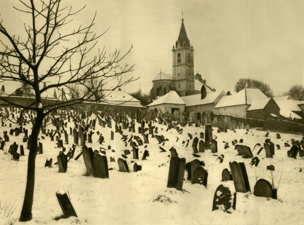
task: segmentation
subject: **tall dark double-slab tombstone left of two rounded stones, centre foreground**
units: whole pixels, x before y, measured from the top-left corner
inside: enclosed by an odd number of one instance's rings
[[[173,187],[182,190],[186,159],[179,157],[171,157],[167,187]]]

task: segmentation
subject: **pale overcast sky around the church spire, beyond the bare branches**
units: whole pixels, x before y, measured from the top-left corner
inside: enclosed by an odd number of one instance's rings
[[[17,0],[0,0],[3,23],[21,34],[24,14]],[[148,93],[162,71],[172,74],[172,46],[178,39],[181,12],[194,51],[194,71],[216,90],[233,91],[240,78],[268,83],[275,94],[304,84],[304,1],[299,0],[67,0],[85,9],[67,29],[88,24],[97,13],[94,31],[107,31],[98,41],[108,52],[130,54],[135,64],[126,78],[140,77],[122,89]],[[22,23],[23,23],[22,22]],[[21,25],[21,26],[20,26]]]

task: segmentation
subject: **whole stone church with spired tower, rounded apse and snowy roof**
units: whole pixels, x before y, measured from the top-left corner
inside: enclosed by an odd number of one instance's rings
[[[172,49],[172,74],[160,71],[153,79],[153,87],[150,90],[152,96],[164,96],[170,91],[175,91],[180,97],[193,94],[200,94],[202,85],[205,85],[207,92],[216,91],[206,85],[202,75],[194,75],[193,46],[187,37],[184,19],[181,19],[181,29],[178,40]]]

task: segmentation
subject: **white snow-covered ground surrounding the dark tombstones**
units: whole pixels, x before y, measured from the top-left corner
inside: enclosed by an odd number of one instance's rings
[[[93,118],[93,116],[91,117]],[[123,130],[123,134],[138,135],[138,126],[136,124],[136,133]],[[27,156],[29,150],[26,149],[26,143],[22,143],[23,134],[18,137],[9,135],[10,141],[5,144],[8,151],[10,144],[14,141],[23,144],[25,156],[21,156],[19,161],[11,160],[11,155],[5,154],[6,151],[0,151],[0,193],[2,206],[5,203],[15,203],[16,210],[9,218],[0,218],[1,224],[303,224],[304,223],[304,157],[297,159],[288,158],[287,151],[290,147],[284,147],[284,142],[291,138],[302,140],[301,135],[281,134],[281,139],[276,138],[275,132],[269,132],[268,138],[274,144],[281,146],[280,150],[275,147],[275,155],[265,158],[263,150],[258,155],[261,160],[257,167],[250,166],[251,159],[243,159],[237,156],[237,151],[231,141],[240,138],[244,139],[243,144],[253,149],[254,145],[260,143],[263,145],[265,140],[265,131],[237,129],[236,133],[216,133],[214,128],[213,136],[217,136],[218,153],[224,154],[223,163],[216,161],[218,156],[214,156],[211,150],[205,153],[199,153],[199,160],[205,162],[208,170],[208,185],[204,187],[200,184],[191,184],[188,181],[187,172],[183,191],[174,188],[167,188],[170,151],[172,146],[176,148],[179,157],[186,158],[189,162],[196,157],[192,156],[192,140],[188,147],[183,146],[182,141],[187,140],[188,133],[193,138],[199,137],[200,132],[205,132],[204,127],[184,127],[182,134],[177,134],[175,129],[166,132],[167,126],[153,124],[158,127],[158,134],[163,134],[166,141],[164,149],[167,152],[160,152],[158,141],[149,135],[150,144],[147,144],[147,150],[150,156],[147,160],[141,160],[144,145],[139,146],[139,160],[132,159],[132,152],[127,155],[127,162],[131,170],[130,173],[118,171],[117,159],[123,154],[123,150],[132,150],[128,144],[120,140],[121,135],[114,133],[114,141],[110,141],[111,129],[102,128],[96,123],[95,134],[93,135],[93,144],[89,144],[93,150],[99,150],[100,147],[108,148],[108,145],[115,150],[107,150],[109,179],[100,179],[85,176],[86,169],[81,156],[77,161],[71,159],[68,162],[66,173],[58,173],[58,166],[54,165],[57,161],[57,155],[60,148],[57,148],[56,141],[50,141],[50,137],[44,140],[43,154],[36,157],[36,182],[33,203],[33,219],[29,222],[19,222],[19,215],[22,208],[22,202],[26,185]],[[74,127],[74,123],[68,123],[69,127]],[[146,124],[147,126],[147,124]],[[115,131],[114,122],[112,122],[113,131]],[[14,128],[14,125],[13,127]],[[30,125],[26,126],[29,129]],[[53,125],[47,128],[55,129]],[[0,127],[2,131],[10,130],[9,127]],[[105,137],[105,142],[100,145],[97,143],[99,131]],[[40,134],[42,136],[42,134]],[[43,135],[45,136],[45,135]],[[140,136],[141,137],[141,136]],[[179,137],[175,142],[175,137]],[[143,139],[143,138],[142,138]],[[199,139],[201,140],[201,139]],[[223,141],[229,143],[229,148],[224,149]],[[64,145],[67,151],[72,146],[73,136],[69,135],[69,145]],[[79,141],[80,143],[80,141]],[[76,147],[74,157],[81,151],[81,146]],[[19,150],[18,150],[19,152]],[[115,157],[116,162],[110,162],[110,156]],[[254,155],[255,156],[255,155]],[[52,167],[44,167],[46,159],[53,158]],[[142,170],[133,172],[131,160],[142,165]],[[251,192],[237,193],[236,210],[228,214],[220,210],[212,211],[213,196],[216,188],[221,182],[221,174],[224,168],[229,168],[229,162],[234,160],[243,161],[246,165]],[[274,165],[275,188],[281,177],[278,187],[278,200],[266,197],[256,197],[253,195],[254,184],[260,178],[270,179],[271,174],[266,170],[266,166]],[[302,168],[302,171],[300,171]],[[233,181],[230,182],[233,186]],[[55,220],[62,214],[55,193],[58,190],[65,190],[71,197],[71,203],[78,217]],[[1,206],[1,207],[2,207]],[[2,216],[2,214],[1,214]]]

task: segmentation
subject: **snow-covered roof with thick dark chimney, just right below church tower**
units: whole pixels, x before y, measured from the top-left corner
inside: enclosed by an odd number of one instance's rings
[[[201,94],[183,96],[181,99],[185,102],[186,106],[209,104],[213,103],[222,92],[226,94],[225,91],[211,91],[206,93],[204,99],[201,99]]]

